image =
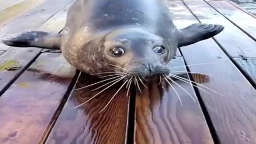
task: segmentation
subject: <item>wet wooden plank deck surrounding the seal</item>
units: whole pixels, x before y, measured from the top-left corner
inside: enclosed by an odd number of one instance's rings
[[[27,30],[60,32],[73,2],[0,0],[0,39]],[[150,84],[129,97],[121,90],[100,114],[117,86],[74,108],[101,91],[72,91],[94,79],[58,51],[0,43],[0,143],[256,144],[256,17],[225,0],[166,4],[178,28],[196,22],[225,26],[214,38],[181,47],[169,63],[175,71],[209,74],[183,76],[199,88],[176,81],[196,102],[178,85],[182,106],[172,89]]]

